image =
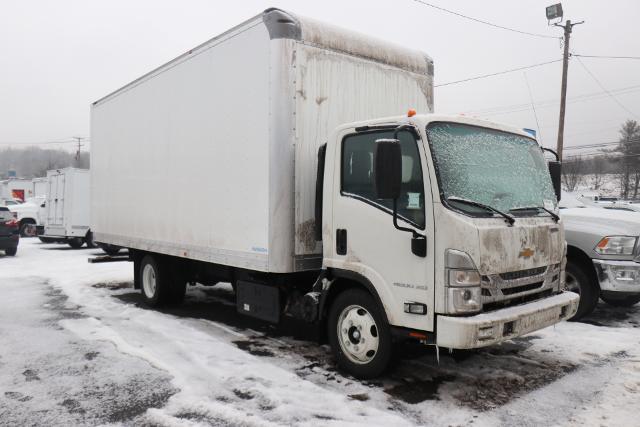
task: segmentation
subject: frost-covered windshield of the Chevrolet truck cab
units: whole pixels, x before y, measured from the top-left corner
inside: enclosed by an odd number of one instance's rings
[[[525,136],[461,123],[427,126],[443,199],[460,198],[509,212],[556,207],[556,196],[540,147]],[[469,213],[492,215],[478,206],[449,202]]]

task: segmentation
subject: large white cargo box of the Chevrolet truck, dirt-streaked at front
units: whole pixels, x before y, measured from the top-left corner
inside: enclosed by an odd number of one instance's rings
[[[433,109],[424,54],[279,10],[96,101],[98,242],[264,272],[320,268],[317,153],[345,122]]]

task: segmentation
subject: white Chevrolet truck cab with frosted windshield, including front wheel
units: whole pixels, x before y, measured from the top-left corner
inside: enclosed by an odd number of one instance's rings
[[[472,118],[409,115],[339,127],[319,162],[323,291],[357,282],[372,295],[331,301],[329,338],[338,361],[364,376],[388,357],[387,325],[476,348],[578,306],[563,291],[564,229],[535,139]]]

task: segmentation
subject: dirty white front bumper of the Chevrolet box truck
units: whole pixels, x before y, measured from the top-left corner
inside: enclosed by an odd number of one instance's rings
[[[436,344],[448,348],[478,348],[519,337],[569,319],[580,297],[563,292],[551,297],[469,317],[438,316]]]

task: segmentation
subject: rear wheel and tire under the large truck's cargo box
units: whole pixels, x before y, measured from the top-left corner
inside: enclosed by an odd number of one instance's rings
[[[140,262],[140,292],[151,307],[180,304],[187,289],[187,282],[176,280],[177,275],[162,261],[163,258],[147,255]]]

